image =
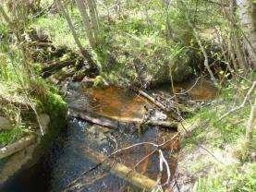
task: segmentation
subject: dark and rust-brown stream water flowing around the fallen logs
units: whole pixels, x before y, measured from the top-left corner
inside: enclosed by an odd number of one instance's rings
[[[177,91],[188,90],[195,81],[176,85]],[[114,119],[143,118],[145,106],[152,103],[127,90],[113,86],[90,88],[78,91],[76,84],[70,86],[67,102],[70,108],[90,108],[91,112]],[[171,86],[166,83],[153,92],[170,94]],[[215,97],[216,90],[211,83],[200,80],[189,91],[191,100],[209,100]],[[155,114],[160,115],[160,114]],[[157,118],[162,118],[158,116]],[[164,117],[163,117],[164,118]],[[170,117],[168,116],[167,119]],[[80,118],[68,117],[66,130],[55,139],[51,149],[41,158],[40,162],[23,170],[9,180],[0,191],[5,192],[46,192],[46,191],[142,191],[139,186],[111,171],[109,167],[100,166],[88,155],[88,150],[98,152],[107,157],[117,149],[123,149],[140,142],[162,144],[177,135],[175,129],[149,126],[138,131],[136,126],[122,126],[118,129],[97,126]],[[164,156],[174,175],[177,167],[177,150],[179,135],[165,146]],[[153,152],[149,158],[140,162],[154,150],[152,146],[143,145],[117,153],[110,159],[114,166],[120,163],[136,172],[157,180],[159,176],[159,155]],[[165,170],[166,171],[166,170]],[[165,183],[164,173],[161,183]]]

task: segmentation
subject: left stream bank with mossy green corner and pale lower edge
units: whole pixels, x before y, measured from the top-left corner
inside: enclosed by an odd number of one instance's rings
[[[24,130],[18,139],[1,146],[0,188],[12,177],[36,164],[67,125],[67,104],[54,91],[46,90],[45,100],[35,99],[38,114],[34,113],[29,102],[20,102],[18,98],[15,100],[10,97],[6,100],[8,103],[2,109],[12,104],[12,107],[21,109],[19,115],[23,120]],[[9,130],[15,128],[11,124]],[[4,134],[6,130],[1,131]]]

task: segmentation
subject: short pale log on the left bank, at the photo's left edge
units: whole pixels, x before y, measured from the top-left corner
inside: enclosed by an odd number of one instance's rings
[[[15,152],[18,152],[19,150],[23,150],[33,143],[35,143],[34,136],[20,138],[18,141],[0,149],[0,160],[9,155],[12,155]]]

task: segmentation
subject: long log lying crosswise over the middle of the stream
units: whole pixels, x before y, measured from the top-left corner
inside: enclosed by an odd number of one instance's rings
[[[143,121],[143,119],[139,118],[122,118],[122,117],[105,117],[98,114],[91,114],[87,111],[80,111],[77,109],[70,108],[68,114],[71,116],[75,116],[86,121],[89,121],[93,124],[99,126],[107,126],[111,128],[119,128],[120,126],[127,126],[127,124],[142,124],[144,126],[161,126],[167,128],[177,128],[177,122],[169,122],[169,121]],[[117,119],[117,120],[116,120]]]

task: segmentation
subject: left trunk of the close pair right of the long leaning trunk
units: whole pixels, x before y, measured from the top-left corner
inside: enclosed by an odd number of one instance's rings
[[[80,12],[80,15],[82,18],[82,22],[84,25],[84,29],[85,29],[88,41],[91,45],[91,48],[95,48],[96,42],[95,42],[95,37],[93,36],[93,32],[92,32],[92,27],[91,27],[91,22],[90,22],[91,19],[89,18],[89,15],[87,13],[86,6],[84,5],[84,1],[76,0],[76,2],[79,7],[79,12]]]

